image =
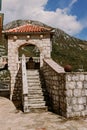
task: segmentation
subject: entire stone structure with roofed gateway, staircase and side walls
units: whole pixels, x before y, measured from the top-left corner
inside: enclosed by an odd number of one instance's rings
[[[37,103],[38,105],[45,108],[37,71],[30,70],[26,74],[24,57],[22,66],[19,65],[19,48],[32,44],[40,51],[40,68],[45,82],[44,92],[47,95],[48,107],[50,106],[53,112],[68,118],[87,116],[87,72],[65,72],[63,67],[51,59],[51,28],[27,24],[4,33],[8,38],[8,67],[11,75],[10,99],[18,104],[22,102],[24,112],[30,111],[31,100],[35,108],[37,101],[40,103]],[[38,80],[35,81],[35,78]],[[39,86],[36,85],[37,82]],[[37,100],[37,97],[41,99]],[[40,106],[38,108],[40,109]]]

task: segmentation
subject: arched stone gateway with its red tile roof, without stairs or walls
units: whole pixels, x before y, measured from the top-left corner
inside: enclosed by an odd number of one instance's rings
[[[8,38],[8,69],[11,74],[11,99],[15,78],[19,69],[19,48],[26,45],[35,45],[40,51],[40,67],[44,58],[51,58],[51,28],[26,24],[4,32]]]

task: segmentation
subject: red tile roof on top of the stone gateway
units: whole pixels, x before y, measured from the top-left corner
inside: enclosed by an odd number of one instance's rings
[[[13,29],[6,30],[7,33],[26,33],[26,32],[49,32],[51,29],[39,25],[26,24]]]

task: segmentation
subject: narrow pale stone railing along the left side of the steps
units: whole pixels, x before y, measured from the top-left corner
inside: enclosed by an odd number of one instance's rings
[[[22,105],[23,111],[29,112],[28,108],[28,84],[26,74],[25,56],[22,55]]]

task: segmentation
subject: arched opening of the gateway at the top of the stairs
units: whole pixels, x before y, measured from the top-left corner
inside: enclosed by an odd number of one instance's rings
[[[22,54],[26,57],[26,69],[40,69],[40,51],[37,46],[25,44],[18,48],[19,61],[22,59]]]

